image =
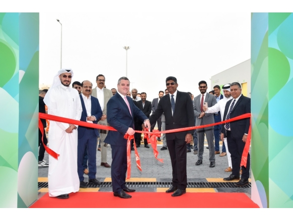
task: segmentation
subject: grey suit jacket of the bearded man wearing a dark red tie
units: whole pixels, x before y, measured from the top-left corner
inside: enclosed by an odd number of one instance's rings
[[[202,118],[198,118],[200,113],[202,112],[201,111],[201,100],[202,100],[201,97],[202,97],[202,94],[196,96],[193,100],[195,125],[200,126],[201,123],[203,123],[203,125],[215,123],[214,113],[206,113]],[[214,105],[217,104],[216,97],[209,93],[207,93],[204,102],[208,103],[208,107],[213,107]],[[214,126],[205,127],[205,129],[210,129],[210,128],[214,128]]]

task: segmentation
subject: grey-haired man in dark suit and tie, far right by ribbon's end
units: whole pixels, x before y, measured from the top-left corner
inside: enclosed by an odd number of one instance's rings
[[[244,113],[250,113],[250,98],[247,98],[241,94],[241,85],[238,82],[234,82],[230,85],[231,96],[233,99],[227,102],[225,106],[223,120],[230,119]],[[250,119],[244,118],[240,120],[231,121],[223,124],[221,127],[221,140],[224,140],[226,134],[229,152],[232,160],[232,174],[229,177],[224,178],[226,181],[239,180],[240,178],[240,163],[244,150],[244,146],[247,139],[248,129],[250,125]],[[238,169],[237,169],[238,168]],[[247,184],[249,178],[250,168],[250,155],[247,155],[246,168],[241,167],[242,175],[240,181],[235,183],[236,186],[244,186]]]

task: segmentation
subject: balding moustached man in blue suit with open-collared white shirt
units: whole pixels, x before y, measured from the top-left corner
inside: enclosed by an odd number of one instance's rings
[[[98,119],[101,118],[103,112],[99,104],[98,99],[90,96],[92,90],[92,83],[89,81],[83,81],[81,83],[82,93],[80,96],[82,113],[81,121],[98,123]],[[78,143],[77,143],[77,172],[79,177],[79,187],[86,188],[83,177],[83,156],[85,149],[88,156],[88,182],[94,185],[100,185],[101,183],[96,179],[96,146],[99,130],[91,127],[78,127]]]

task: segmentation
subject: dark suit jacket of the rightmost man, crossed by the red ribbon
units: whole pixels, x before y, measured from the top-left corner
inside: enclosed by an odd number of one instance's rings
[[[231,99],[227,102],[225,106],[224,116],[223,120],[226,119],[229,106],[231,102],[233,102],[234,99]],[[244,95],[240,95],[239,100],[235,104],[235,106],[232,109],[232,112],[230,113],[230,118],[240,116],[244,113],[250,113],[250,98],[245,97]],[[225,128],[222,124],[221,127],[221,133],[225,134]],[[230,129],[231,129],[231,135],[234,138],[242,138],[244,133],[248,134],[248,129],[250,125],[250,118],[244,118],[240,120],[235,120],[230,122]]]

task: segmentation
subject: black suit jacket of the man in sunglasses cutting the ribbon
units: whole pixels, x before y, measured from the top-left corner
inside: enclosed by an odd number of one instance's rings
[[[163,112],[166,120],[166,130],[194,126],[192,101],[188,93],[177,91],[175,110],[173,115],[170,94],[163,96],[158,103],[157,109],[149,117],[150,124],[155,123]],[[175,139],[175,137],[177,137],[178,139],[185,139],[186,134],[193,134],[193,131],[194,130],[166,133],[166,139],[172,140]]]

